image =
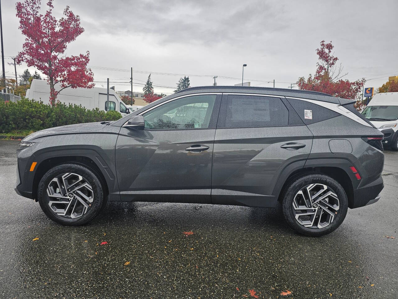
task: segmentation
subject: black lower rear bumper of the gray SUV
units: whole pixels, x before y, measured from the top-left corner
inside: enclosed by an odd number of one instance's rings
[[[355,209],[377,202],[383,188],[383,178],[379,177],[376,181],[354,190],[354,199],[348,207]]]

